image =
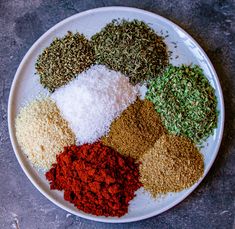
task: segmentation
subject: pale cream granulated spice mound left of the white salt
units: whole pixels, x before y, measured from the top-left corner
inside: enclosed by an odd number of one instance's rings
[[[23,107],[15,120],[16,138],[23,152],[38,168],[47,170],[65,146],[75,144],[75,135],[48,98]]]

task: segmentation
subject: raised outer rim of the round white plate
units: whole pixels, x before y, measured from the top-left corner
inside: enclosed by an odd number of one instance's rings
[[[197,48],[202,52],[202,54],[205,56],[206,61],[208,62],[212,73],[213,73],[213,78],[216,81],[216,85],[218,88],[218,97],[221,100],[221,110],[220,110],[220,115],[221,115],[221,130],[218,133],[218,144],[215,148],[215,153],[213,155],[213,157],[211,158],[211,162],[210,164],[207,166],[207,169],[204,171],[204,175],[203,177],[200,179],[200,181],[198,183],[196,183],[193,187],[192,190],[190,190],[188,193],[182,195],[182,197],[180,197],[179,199],[177,199],[176,201],[173,201],[171,204],[169,204],[168,206],[162,208],[161,210],[157,210],[157,211],[153,211],[149,214],[146,214],[144,216],[136,216],[133,217],[131,219],[128,218],[116,218],[116,217],[112,217],[112,218],[99,218],[97,216],[93,216],[93,215],[84,215],[82,214],[80,211],[73,211],[71,209],[69,209],[68,207],[60,204],[59,202],[57,202],[57,200],[55,200],[53,197],[51,197],[49,194],[47,194],[43,188],[41,188],[37,182],[34,180],[33,176],[29,173],[28,169],[26,168],[26,166],[24,165],[23,161],[21,160],[19,153],[17,151],[16,148],[16,142],[14,139],[14,121],[13,121],[13,112],[12,112],[12,104],[13,104],[13,94],[16,88],[16,81],[19,78],[19,73],[21,72],[21,69],[23,68],[23,66],[25,65],[25,62],[27,61],[28,57],[31,55],[31,53],[33,52],[34,48],[40,44],[44,38],[46,38],[50,33],[52,33],[54,30],[56,30],[58,27],[61,27],[62,25],[68,23],[69,21],[75,19],[75,18],[79,18],[79,17],[83,17],[85,15],[89,15],[91,13],[96,13],[96,12],[107,12],[107,11],[116,11],[116,10],[121,10],[121,11],[127,11],[127,12],[135,12],[135,13],[140,13],[140,14],[145,14],[148,16],[153,16],[155,18],[160,19],[161,21],[165,21],[166,23],[172,25],[173,27],[177,28],[178,30],[180,30],[181,32],[183,32],[184,34],[186,34],[196,45]],[[70,17],[67,17],[65,19],[63,19],[62,21],[58,22],[57,24],[55,24],[54,26],[52,26],[49,30],[47,30],[42,36],[40,36],[34,43],[33,45],[29,48],[29,50],[27,51],[27,53],[24,55],[23,59],[20,62],[20,65],[17,68],[17,71],[14,75],[12,84],[11,84],[11,89],[10,89],[10,93],[9,93],[9,97],[8,97],[8,131],[9,131],[9,135],[10,135],[10,141],[11,141],[11,145],[13,147],[13,151],[15,153],[15,156],[18,160],[18,163],[20,164],[22,170],[24,171],[25,175],[27,176],[27,178],[31,181],[31,183],[39,190],[39,192],[41,194],[43,194],[48,200],[50,200],[52,203],[54,203],[55,205],[57,205],[58,207],[62,208],[63,210],[85,218],[85,219],[89,219],[89,220],[94,220],[94,221],[98,221],[98,222],[104,222],[104,223],[128,223],[128,222],[135,222],[135,221],[139,221],[139,220],[143,220],[143,219],[147,219],[156,215],[159,215],[167,210],[169,210],[170,208],[176,206],[177,204],[179,204],[180,202],[182,202],[186,197],[188,197],[197,187],[198,185],[202,182],[202,180],[205,178],[205,176],[208,174],[210,168],[212,167],[212,165],[214,164],[214,161],[218,155],[218,151],[221,145],[221,141],[223,138],[223,131],[224,131],[224,121],[225,121],[225,107],[224,107],[224,98],[223,98],[223,92],[222,92],[222,88],[220,85],[220,81],[218,78],[218,75],[215,71],[215,68],[212,64],[212,62],[210,61],[209,57],[207,56],[207,54],[205,53],[205,51],[201,48],[201,46],[198,44],[198,42],[190,35],[188,34],[188,32],[186,32],[184,29],[182,29],[180,26],[178,26],[177,24],[175,24],[174,22],[172,22],[171,20],[160,16],[156,13],[147,11],[147,10],[143,10],[143,9],[139,9],[139,8],[134,8],[134,7],[125,7],[125,6],[109,6],[109,7],[99,7],[99,8],[93,8],[93,9],[89,9],[80,13],[76,13]]]

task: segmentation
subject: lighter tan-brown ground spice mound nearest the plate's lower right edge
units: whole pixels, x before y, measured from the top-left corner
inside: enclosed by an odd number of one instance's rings
[[[174,135],[163,135],[140,161],[140,181],[153,197],[189,188],[204,171],[196,146]]]

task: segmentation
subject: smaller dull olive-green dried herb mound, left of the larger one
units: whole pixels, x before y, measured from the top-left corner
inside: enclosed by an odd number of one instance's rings
[[[84,35],[68,32],[44,49],[36,62],[40,83],[53,92],[94,63],[94,50]]]

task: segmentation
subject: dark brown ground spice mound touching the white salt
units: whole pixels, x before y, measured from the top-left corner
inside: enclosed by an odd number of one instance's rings
[[[153,104],[137,99],[111,124],[102,142],[121,154],[139,159],[164,132]]]

